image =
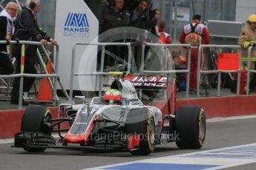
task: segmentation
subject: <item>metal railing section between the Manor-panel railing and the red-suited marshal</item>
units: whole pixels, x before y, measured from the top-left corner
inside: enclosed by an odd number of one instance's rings
[[[164,66],[164,71],[153,71],[153,70],[144,70],[144,58],[145,58],[145,47],[163,47],[164,54],[166,54],[167,47],[188,47],[188,67],[187,69],[180,69],[180,70],[165,70],[167,69]],[[166,56],[165,56],[166,57]],[[190,65],[191,65],[191,45],[189,44],[153,44],[153,43],[143,43],[142,44],[142,66],[141,66],[141,73],[151,73],[151,74],[176,74],[176,73],[187,73],[186,82],[189,84],[190,81]],[[189,97],[189,86],[186,86],[186,98]]]

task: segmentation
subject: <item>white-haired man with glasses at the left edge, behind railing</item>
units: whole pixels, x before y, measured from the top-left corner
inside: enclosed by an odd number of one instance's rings
[[[18,5],[9,2],[5,10],[0,13],[0,40],[10,41],[13,37],[13,18],[16,16]],[[10,75],[14,72],[13,64],[9,57],[7,44],[0,44],[0,75]]]

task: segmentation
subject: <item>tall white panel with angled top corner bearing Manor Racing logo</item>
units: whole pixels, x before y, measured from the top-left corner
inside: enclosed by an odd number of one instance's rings
[[[97,43],[99,21],[83,0],[57,0],[55,38],[59,44],[59,76],[65,89],[70,89],[72,47],[76,42]],[[96,72],[97,47],[76,47],[75,72]],[[79,70],[79,67],[81,70]],[[81,77],[80,77],[81,78]],[[95,78],[74,78],[76,90],[95,91]]]

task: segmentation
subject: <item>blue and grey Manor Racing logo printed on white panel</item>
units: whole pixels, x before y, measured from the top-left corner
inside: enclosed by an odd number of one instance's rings
[[[65,37],[89,38],[90,27],[85,13],[68,13],[65,21]]]

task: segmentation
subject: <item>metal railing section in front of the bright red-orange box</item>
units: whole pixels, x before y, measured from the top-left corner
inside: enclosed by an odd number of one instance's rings
[[[232,48],[237,49],[239,53],[239,69],[238,70],[200,70],[201,65],[201,53],[203,48],[207,47],[217,47],[217,48]],[[240,63],[241,63],[241,47],[239,45],[214,45],[214,44],[203,44],[198,47],[198,62],[197,62],[197,97],[200,97],[200,75],[201,74],[211,74],[211,73],[217,73],[218,79],[217,79],[217,96],[220,96],[220,79],[221,79],[221,73],[223,72],[237,72],[237,95],[239,95],[239,89],[240,89]]]

